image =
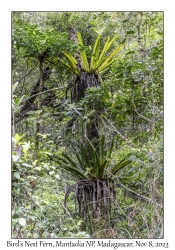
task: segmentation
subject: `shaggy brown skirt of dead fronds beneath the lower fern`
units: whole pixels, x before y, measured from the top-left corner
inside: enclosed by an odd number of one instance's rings
[[[111,229],[114,185],[110,180],[81,180],[76,184],[79,215],[83,221],[81,230],[94,238],[104,238]]]

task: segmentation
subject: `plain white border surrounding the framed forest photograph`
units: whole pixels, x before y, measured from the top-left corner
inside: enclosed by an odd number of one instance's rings
[[[169,249],[174,243],[175,182],[175,15],[172,1],[1,1],[0,15],[0,249],[11,240],[11,11],[164,11],[165,75],[164,75],[164,160],[165,160],[165,234]],[[47,240],[49,242],[50,240]],[[117,240],[134,242],[135,240]],[[142,242],[147,240],[142,240]],[[22,249],[22,248],[21,248]],[[42,248],[40,248],[42,249]],[[45,249],[45,248],[43,248]],[[144,247],[144,249],[150,249]]]

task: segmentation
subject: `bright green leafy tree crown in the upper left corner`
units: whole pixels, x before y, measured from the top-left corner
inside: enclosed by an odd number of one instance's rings
[[[22,49],[24,57],[38,58],[44,52],[53,56],[55,52],[77,49],[76,44],[67,40],[66,33],[56,32],[54,29],[43,30],[38,25],[29,23],[15,27],[12,38],[14,48]]]

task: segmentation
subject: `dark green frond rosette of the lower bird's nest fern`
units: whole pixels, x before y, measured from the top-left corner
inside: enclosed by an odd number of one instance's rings
[[[114,140],[112,140],[107,150],[105,137],[102,136],[97,148],[94,148],[94,146],[87,141],[85,147],[82,147],[78,153],[75,152],[75,160],[66,153],[62,153],[62,157],[49,156],[49,158],[58,163],[63,171],[68,172],[78,179],[108,179],[112,178],[119,170],[132,162],[129,158],[131,153],[128,153],[122,160],[112,166],[113,146]]]

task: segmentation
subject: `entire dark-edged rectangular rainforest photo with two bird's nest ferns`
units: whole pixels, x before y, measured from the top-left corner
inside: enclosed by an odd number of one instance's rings
[[[12,238],[163,233],[163,12],[12,12]]]

